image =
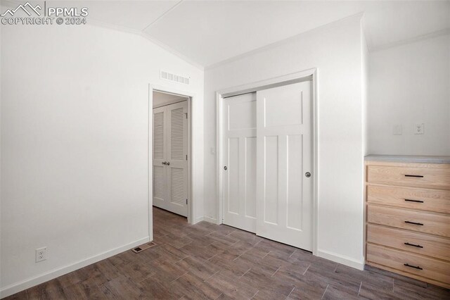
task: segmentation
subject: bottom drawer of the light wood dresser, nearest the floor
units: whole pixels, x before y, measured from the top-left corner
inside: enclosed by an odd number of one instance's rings
[[[437,259],[368,244],[367,261],[446,284],[450,283],[450,263]]]

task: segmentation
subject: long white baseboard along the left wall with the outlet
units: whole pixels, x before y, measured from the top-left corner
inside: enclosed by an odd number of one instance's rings
[[[135,242],[131,242],[129,244],[117,247],[115,249],[105,251],[101,254],[97,254],[96,256],[91,256],[82,261],[77,261],[76,263],[71,263],[70,265],[65,265],[63,267],[50,270],[46,273],[42,273],[34,277],[27,278],[26,280],[20,282],[15,282],[12,285],[8,285],[0,289],[0,298],[11,296],[25,289],[29,289],[30,287],[34,287],[35,285],[40,285],[43,282],[52,280],[53,278],[78,270],[79,268],[86,267],[86,265],[91,265],[92,263],[96,263],[105,258],[115,256],[116,254],[120,254],[123,251],[127,251],[129,249],[134,248],[135,246],[139,246],[147,242],[150,242],[149,237],[144,237],[143,239],[139,239]]]

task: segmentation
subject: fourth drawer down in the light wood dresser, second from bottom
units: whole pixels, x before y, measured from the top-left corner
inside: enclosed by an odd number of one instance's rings
[[[367,242],[450,261],[450,239],[424,233],[368,224]]]

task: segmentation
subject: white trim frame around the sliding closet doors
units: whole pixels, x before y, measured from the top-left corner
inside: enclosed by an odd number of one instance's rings
[[[236,96],[238,94],[246,94],[250,92],[256,92],[261,89],[269,89],[271,87],[279,87],[283,85],[290,85],[296,82],[302,82],[306,80],[312,80],[312,119],[313,119],[313,232],[312,232],[312,253],[317,255],[317,223],[318,223],[318,182],[319,182],[319,109],[318,109],[318,94],[317,94],[317,68],[311,68],[308,70],[302,70],[296,73],[290,73],[287,75],[270,78],[267,80],[261,80],[257,82],[252,82],[246,85],[239,85],[237,87],[230,87],[228,89],[222,89],[216,92],[216,149],[217,149],[217,165],[216,165],[216,175],[217,175],[217,224],[223,223],[223,172],[221,172],[223,165],[223,104],[224,97]]]

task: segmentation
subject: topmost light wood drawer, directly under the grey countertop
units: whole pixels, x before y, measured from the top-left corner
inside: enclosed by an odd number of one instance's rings
[[[450,168],[368,165],[367,182],[404,187],[450,189]]]

